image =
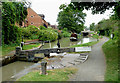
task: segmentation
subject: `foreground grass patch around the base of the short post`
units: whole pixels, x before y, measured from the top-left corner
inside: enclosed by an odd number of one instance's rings
[[[67,81],[69,76],[76,73],[76,68],[48,70],[48,75],[41,75],[39,71],[30,72],[17,81]]]

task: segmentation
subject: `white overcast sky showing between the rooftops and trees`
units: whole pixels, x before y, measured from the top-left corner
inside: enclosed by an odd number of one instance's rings
[[[51,25],[58,24],[56,22],[57,15],[59,13],[59,6],[61,4],[69,4],[71,0],[28,0],[32,2],[31,8],[37,14],[44,14],[45,20],[50,22]],[[89,27],[91,23],[98,23],[103,18],[109,18],[109,14],[112,10],[106,11],[103,15],[92,15],[91,11],[84,11],[87,14],[85,19],[85,26]]]

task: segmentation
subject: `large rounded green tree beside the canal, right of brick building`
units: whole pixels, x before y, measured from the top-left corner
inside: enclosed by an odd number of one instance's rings
[[[59,9],[61,10],[58,14],[59,27],[67,28],[69,31],[79,33],[83,30],[86,14],[81,10],[73,9],[73,6],[62,4]]]

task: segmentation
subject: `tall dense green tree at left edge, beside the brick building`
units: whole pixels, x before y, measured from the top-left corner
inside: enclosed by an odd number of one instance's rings
[[[24,2],[2,2],[2,43],[19,42],[20,31],[15,23],[22,22],[27,16]]]

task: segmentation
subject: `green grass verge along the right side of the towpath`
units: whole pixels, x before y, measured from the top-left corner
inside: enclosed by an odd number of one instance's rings
[[[107,69],[105,81],[118,81],[118,47],[115,40],[109,40],[103,46]]]

